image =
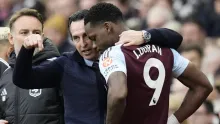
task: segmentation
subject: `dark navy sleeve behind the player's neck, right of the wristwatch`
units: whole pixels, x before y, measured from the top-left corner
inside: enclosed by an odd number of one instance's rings
[[[146,31],[151,34],[149,43],[162,47],[178,49],[183,40],[179,33],[167,28],[149,29]]]

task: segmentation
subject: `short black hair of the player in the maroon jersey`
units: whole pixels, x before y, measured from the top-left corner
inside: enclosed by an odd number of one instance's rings
[[[106,21],[118,22],[123,21],[123,15],[119,8],[111,3],[98,3],[92,6],[86,15],[84,24],[91,23],[96,25]]]

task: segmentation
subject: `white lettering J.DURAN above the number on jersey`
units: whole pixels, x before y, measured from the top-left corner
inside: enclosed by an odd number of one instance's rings
[[[133,50],[133,53],[135,54],[137,59],[139,59],[145,53],[151,53],[151,52],[156,52],[162,56],[162,50],[159,46],[145,45],[145,46],[137,48],[136,50]]]

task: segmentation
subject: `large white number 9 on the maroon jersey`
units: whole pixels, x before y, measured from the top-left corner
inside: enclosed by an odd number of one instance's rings
[[[156,67],[159,71],[157,80],[152,80],[150,77],[150,68]],[[150,58],[144,65],[144,81],[152,89],[155,89],[153,97],[150,101],[149,106],[156,105],[159,101],[160,94],[163,88],[165,80],[165,68],[163,63],[159,59]]]

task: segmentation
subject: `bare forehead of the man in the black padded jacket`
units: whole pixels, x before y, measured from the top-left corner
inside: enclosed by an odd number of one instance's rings
[[[13,24],[13,27],[17,30],[29,29],[29,30],[42,30],[41,22],[33,16],[21,16]]]

